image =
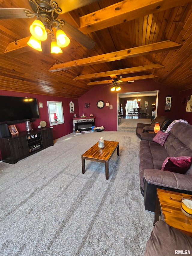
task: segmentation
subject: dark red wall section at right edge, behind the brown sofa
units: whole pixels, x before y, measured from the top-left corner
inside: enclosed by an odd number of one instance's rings
[[[187,98],[190,95],[192,95],[192,89],[180,92],[178,111],[179,118],[185,119],[190,125],[192,125],[192,112],[186,112]],[[185,103],[183,103],[184,99],[186,99]]]

